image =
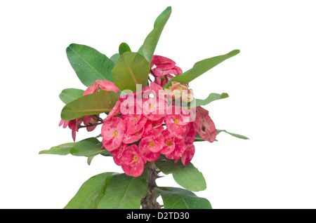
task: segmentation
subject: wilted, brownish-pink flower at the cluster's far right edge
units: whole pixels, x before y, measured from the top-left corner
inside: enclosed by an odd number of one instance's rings
[[[193,126],[202,137],[203,140],[214,142],[217,135],[217,130],[215,125],[205,109],[199,108],[197,109],[196,119],[193,122]]]

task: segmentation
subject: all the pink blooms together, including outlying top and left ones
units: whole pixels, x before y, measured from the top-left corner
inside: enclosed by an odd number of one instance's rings
[[[182,74],[176,62],[154,55],[150,74],[154,82],[141,91],[121,95],[104,120],[94,115],[60,121],[60,126],[72,129],[74,140],[79,128],[91,131],[102,124],[103,147],[111,152],[124,173],[133,177],[140,176],[145,163],[156,161],[161,154],[174,159],[175,163],[181,159],[183,165],[187,165],[195,154],[195,136],[198,134],[203,140],[213,142],[217,135],[206,109],[180,107],[182,102],[194,100],[186,84],[173,81],[169,88],[162,88],[173,75]],[[98,90],[119,93],[114,83],[97,80],[84,95]],[[82,122],[86,126],[81,126]]]

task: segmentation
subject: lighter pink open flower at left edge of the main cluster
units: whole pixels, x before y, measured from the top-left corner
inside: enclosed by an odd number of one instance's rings
[[[118,149],[123,141],[125,134],[125,123],[119,117],[112,117],[105,121],[101,128],[103,146],[107,151]]]

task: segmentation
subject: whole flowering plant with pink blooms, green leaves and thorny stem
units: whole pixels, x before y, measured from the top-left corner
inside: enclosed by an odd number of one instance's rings
[[[214,142],[218,133],[228,133],[216,129],[202,108],[228,94],[211,93],[200,100],[189,83],[239,50],[199,61],[183,72],[173,60],[154,55],[170,15],[168,7],[158,16],[138,52],[121,43],[119,53],[107,58],[89,46],[67,47],[70,65],[87,87],[67,88],[59,95],[65,102],[59,126],[72,130],[74,142],[39,153],[86,156],[89,165],[98,154],[112,156],[124,173],[91,177],[65,208],[211,208],[206,198],[192,192],[206,189],[206,182],[191,160],[195,142]],[[90,132],[98,125],[97,137],[75,141],[79,129]],[[160,172],[172,174],[183,188],[157,187]]]

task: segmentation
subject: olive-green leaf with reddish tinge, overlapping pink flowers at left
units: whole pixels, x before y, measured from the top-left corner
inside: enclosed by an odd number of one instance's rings
[[[119,94],[113,91],[100,90],[98,93],[79,97],[63,107],[61,119],[70,121],[86,115],[110,112],[119,100]]]

